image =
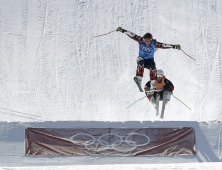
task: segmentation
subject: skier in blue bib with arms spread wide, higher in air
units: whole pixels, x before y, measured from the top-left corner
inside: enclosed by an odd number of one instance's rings
[[[150,33],[146,33],[143,35],[143,37],[141,37],[130,31],[123,29],[122,27],[118,27],[116,31],[125,33],[130,38],[139,43],[139,56],[137,57],[136,60],[137,61],[136,78],[140,87],[142,84],[144,68],[150,70],[150,80],[155,80],[156,65],[154,62],[154,53],[156,52],[157,48],[163,48],[163,49],[173,48],[178,50],[181,49],[179,44],[171,45],[171,44],[163,44],[157,42],[155,39],[153,39],[153,36]]]

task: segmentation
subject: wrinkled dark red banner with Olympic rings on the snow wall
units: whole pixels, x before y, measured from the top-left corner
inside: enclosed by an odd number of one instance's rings
[[[183,128],[27,128],[26,155],[196,155],[195,133]]]

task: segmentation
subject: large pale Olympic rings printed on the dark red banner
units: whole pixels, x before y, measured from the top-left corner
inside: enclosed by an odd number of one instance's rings
[[[80,136],[88,137],[88,138],[90,138],[90,140],[87,140],[84,142],[83,141],[80,141],[80,142],[76,141],[76,139]],[[133,138],[133,136],[138,136],[138,138],[144,137],[146,142],[144,142],[142,144],[137,144],[135,141],[131,140],[131,138]],[[117,140],[112,142],[111,144],[109,144],[107,141],[104,140],[107,137],[108,138],[116,137]],[[144,135],[144,134],[131,133],[127,137],[125,137],[125,139],[123,139],[122,136],[119,136],[114,133],[108,133],[108,134],[104,134],[104,135],[100,136],[98,139],[96,139],[94,136],[92,136],[88,133],[78,133],[78,134],[75,134],[71,137],[71,142],[75,145],[84,146],[86,149],[91,150],[91,151],[96,151],[96,152],[105,151],[107,149],[113,149],[118,152],[131,152],[134,149],[136,149],[137,147],[148,145],[150,143],[150,138],[149,138],[149,136]],[[97,142],[101,146],[103,146],[102,149],[98,149],[97,147],[96,148],[89,147],[90,145],[96,144]],[[123,145],[124,143],[130,147],[127,147],[127,149],[121,149],[121,145]]]

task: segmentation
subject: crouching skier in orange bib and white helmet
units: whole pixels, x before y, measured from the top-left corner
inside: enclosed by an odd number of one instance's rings
[[[160,101],[163,100],[163,93],[167,91],[166,104],[170,101],[170,97],[173,94],[174,86],[170,80],[165,78],[164,72],[162,70],[156,71],[155,80],[148,81],[144,87],[145,93],[148,100],[156,108],[156,94],[160,95]],[[150,90],[158,90],[155,92],[148,92]]]

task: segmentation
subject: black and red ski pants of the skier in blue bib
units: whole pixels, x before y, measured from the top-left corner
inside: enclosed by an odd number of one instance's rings
[[[144,68],[150,70],[150,80],[156,79],[156,64],[154,62],[154,59],[144,59],[140,56],[137,57],[137,70],[136,70],[136,76],[143,77]]]

